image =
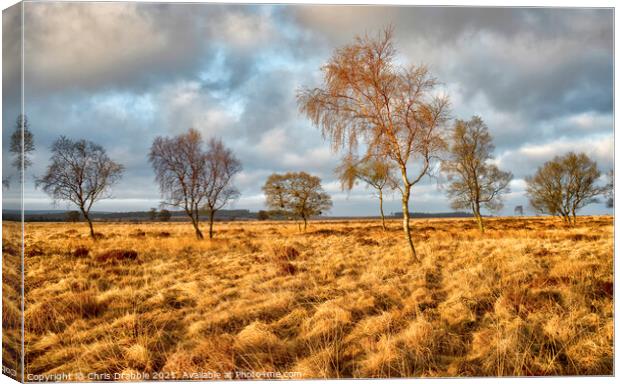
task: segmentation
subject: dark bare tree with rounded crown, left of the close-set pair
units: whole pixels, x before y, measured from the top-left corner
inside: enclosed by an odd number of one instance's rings
[[[120,180],[123,166],[91,141],[73,141],[61,136],[52,144],[51,151],[51,164],[36,185],[54,201],[77,205],[88,222],[90,236],[95,238],[90,210],[96,201],[110,197],[110,187]]]

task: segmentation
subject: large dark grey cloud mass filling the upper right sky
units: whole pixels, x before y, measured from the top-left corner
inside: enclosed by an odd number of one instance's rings
[[[455,117],[517,117],[508,125],[524,131],[498,127],[505,144],[518,145],[514,139],[541,121],[612,111],[611,9],[307,6],[291,13],[332,47],[392,24],[403,61],[427,64],[461,89],[463,115]],[[480,97],[485,109],[475,103]]]

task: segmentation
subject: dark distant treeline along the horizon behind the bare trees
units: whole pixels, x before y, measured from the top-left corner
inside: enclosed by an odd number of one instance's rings
[[[25,221],[28,222],[45,222],[45,221],[71,221],[69,212],[71,211],[26,211],[24,214]],[[257,219],[269,219],[269,220],[286,220],[286,218],[270,215],[270,217],[260,217],[264,211],[253,212],[249,209],[223,209],[217,211],[215,219],[220,221],[229,220],[257,220]],[[132,212],[93,212],[92,218],[97,221],[151,221],[151,212],[149,211],[132,211]],[[204,216],[206,217],[206,213]],[[183,211],[170,211],[171,221],[188,221],[185,212]],[[392,217],[402,218],[402,212],[394,212]],[[426,218],[451,218],[451,217],[472,217],[471,213],[467,212],[412,212],[410,214],[412,218],[426,219]],[[347,219],[357,218],[348,216],[339,217],[322,217],[324,219]],[[366,219],[376,218],[375,216],[365,216]],[[6,221],[20,221],[21,214],[18,210],[3,210],[2,220]],[[83,220],[83,218],[81,218]]]

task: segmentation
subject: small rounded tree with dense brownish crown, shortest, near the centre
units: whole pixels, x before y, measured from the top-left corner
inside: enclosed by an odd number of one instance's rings
[[[304,222],[332,206],[332,200],[321,187],[321,179],[306,172],[272,174],[263,186],[267,206],[279,213]],[[300,228],[301,230],[301,228]]]

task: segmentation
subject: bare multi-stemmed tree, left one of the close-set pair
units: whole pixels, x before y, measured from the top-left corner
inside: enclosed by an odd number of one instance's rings
[[[185,211],[198,239],[204,238],[200,231],[199,208],[208,187],[203,144],[200,133],[190,129],[175,137],[156,137],[149,153],[164,204]]]

